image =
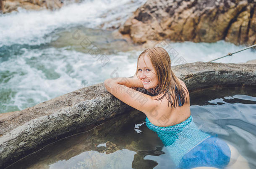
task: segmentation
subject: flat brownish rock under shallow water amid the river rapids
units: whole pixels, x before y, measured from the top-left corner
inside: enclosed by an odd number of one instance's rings
[[[143,50],[140,45],[134,45],[131,39],[124,38],[117,30],[102,30],[78,26],[66,30],[56,31],[56,40],[51,42],[55,48],[71,46],[71,49],[92,54],[110,55],[130,50]],[[90,44],[90,45],[89,45]],[[91,50],[97,46],[97,50]]]

